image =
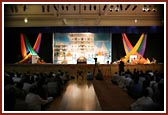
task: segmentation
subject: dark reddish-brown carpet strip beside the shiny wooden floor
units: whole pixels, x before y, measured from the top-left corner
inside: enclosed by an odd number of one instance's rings
[[[127,91],[111,80],[93,80],[93,86],[102,111],[130,111],[130,105],[135,102]]]

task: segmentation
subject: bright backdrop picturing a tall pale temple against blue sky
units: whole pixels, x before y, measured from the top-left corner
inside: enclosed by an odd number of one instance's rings
[[[53,33],[53,63],[110,63],[111,42],[110,33]]]

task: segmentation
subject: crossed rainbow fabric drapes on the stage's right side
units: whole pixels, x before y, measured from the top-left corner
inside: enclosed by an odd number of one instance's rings
[[[128,40],[127,36],[125,33],[122,34],[122,39],[123,39],[123,45],[124,45],[124,50],[125,50],[125,62],[129,60],[130,55],[137,55],[138,57],[141,58],[141,63],[147,64],[150,63],[148,59],[145,59],[143,57],[145,48],[146,48],[146,42],[147,42],[147,34],[141,34],[139,40],[133,47],[130,41]]]

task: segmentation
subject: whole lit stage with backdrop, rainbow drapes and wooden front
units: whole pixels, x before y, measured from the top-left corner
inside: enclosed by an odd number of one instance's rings
[[[57,72],[59,69],[76,76],[80,69],[86,75],[95,68],[95,58],[98,68],[104,77],[111,77],[118,72],[118,64],[122,60],[125,70],[164,71],[164,65],[156,63],[156,59],[149,60],[144,57],[147,46],[147,34],[142,33],[137,42],[132,45],[126,33],[122,33],[121,48],[125,55],[115,61],[113,59],[112,34],[110,33],[53,33],[52,35],[52,63],[48,63],[39,55],[42,33],[36,36],[32,45],[26,34],[20,34],[20,49],[22,60],[13,64],[5,64],[5,71],[13,72]],[[152,50],[152,49],[151,49]],[[47,55],[47,54],[46,54]]]

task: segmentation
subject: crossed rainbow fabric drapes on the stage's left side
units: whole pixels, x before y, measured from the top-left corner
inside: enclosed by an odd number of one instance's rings
[[[21,61],[17,62],[17,64],[27,63],[29,61],[29,59],[31,59],[32,55],[38,56],[37,53],[39,52],[39,49],[40,49],[41,37],[42,37],[42,34],[39,33],[37,36],[36,42],[32,48],[26,35],[24,35],[22,33],[20,34],[21,53],[22,53],[23,59]]]

